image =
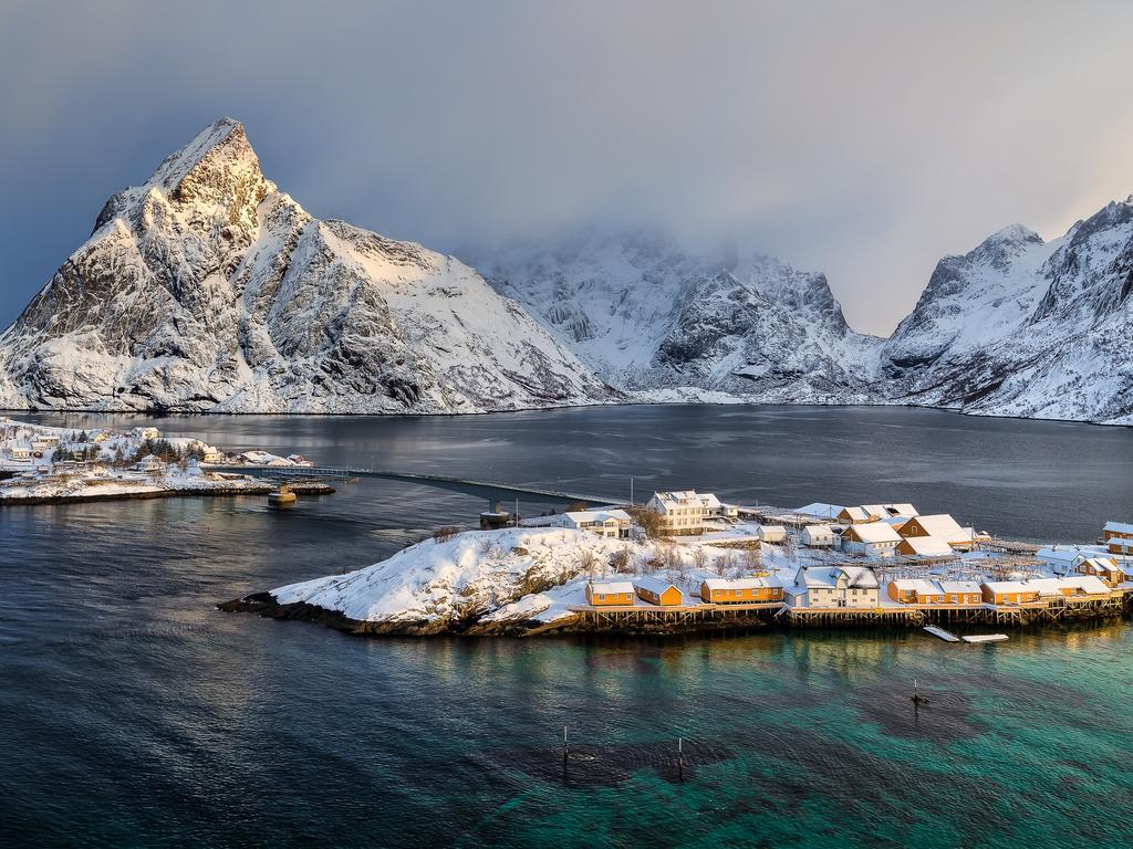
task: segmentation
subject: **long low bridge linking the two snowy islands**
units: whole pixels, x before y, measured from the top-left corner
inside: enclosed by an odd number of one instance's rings
[[[603,498],[593,494],[568,492],[560,489],[544,489],[540,487],[529,487],[512,483],[495,483],[492,481],[470,480],[467,478],[451,478],[442,474],[419,474],[415,472],[394,472],[385,469],[352,469],[349,466],[303,466],[303,465],[221,465],[202,463],[201,469],[206,472],[227,472],[232,474],[252,474],[257,478],[283,478],[297,480],[299,478],[318,478],[330,480],[348,480],[350,478],[375,478],[381,480],[395,480],[407,483],[421,483],[427,487],[446,489],[463,495],[477,496],[488,501],[489,509],[500,501],[506,501],[517,497],[535,498],[540,501],[552,504],[572,504],[585,501],[587,504],[611,504],[617,501],[616,498]]]

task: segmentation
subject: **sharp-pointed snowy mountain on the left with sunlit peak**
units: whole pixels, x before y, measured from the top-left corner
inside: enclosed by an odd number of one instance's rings
[[[459,413],[615,400],[471,268],[320,221],[221,119],[0,335],[0,406]]]

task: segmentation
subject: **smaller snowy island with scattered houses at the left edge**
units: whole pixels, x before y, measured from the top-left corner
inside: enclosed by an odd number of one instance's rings
[[[202,439],[164,436],[153,426],[125,430],[53,428],[0,418],[0,505],[264,495],[278,484],[231,466],[300,466],[298,454],[224,452]],[[333,491],[322,483],[312,491]]]

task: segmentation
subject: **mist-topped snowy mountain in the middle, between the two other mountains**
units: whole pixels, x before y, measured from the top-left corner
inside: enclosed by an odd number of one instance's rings
[[[716,258],[653,233],[585,231],[467,257],[610,384],[765,403],[868,403],[879,340],[851,331],[826,277]]]

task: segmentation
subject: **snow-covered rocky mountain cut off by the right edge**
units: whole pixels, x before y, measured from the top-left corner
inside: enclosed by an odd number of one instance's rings
[[[937,265],[881,349],[895,401],[1133,423],[1133,196],[1043,242],[1015,225]]]

